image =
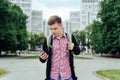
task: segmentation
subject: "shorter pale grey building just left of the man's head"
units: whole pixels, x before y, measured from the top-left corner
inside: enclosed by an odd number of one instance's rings
[[[43,31],[43,12],[38,10],[32,10],[31,16],[31,32],[32,33],[41,33]]]

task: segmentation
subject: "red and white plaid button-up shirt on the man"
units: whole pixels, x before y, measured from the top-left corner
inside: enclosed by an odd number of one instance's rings
[[[69,55],[66,53],[67,37],[65,34],[60,39],[53,36],[52,47],[52,66],[50,77],[57,80],[59,75],[62,80],[68,79],[71,76],[69,63]]]

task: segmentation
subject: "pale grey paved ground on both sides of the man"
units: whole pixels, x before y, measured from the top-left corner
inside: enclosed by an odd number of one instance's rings
[[[75,59],[78,80],[102,80],[94,75],[96,70],[120,69],[120,59],[86,57],[93,59]],[[45,78],[45,64],[40,63],[38,59],[0,58],[0,68],[9,71],[9,74],[0,77],[0,80],[44,80]]]

